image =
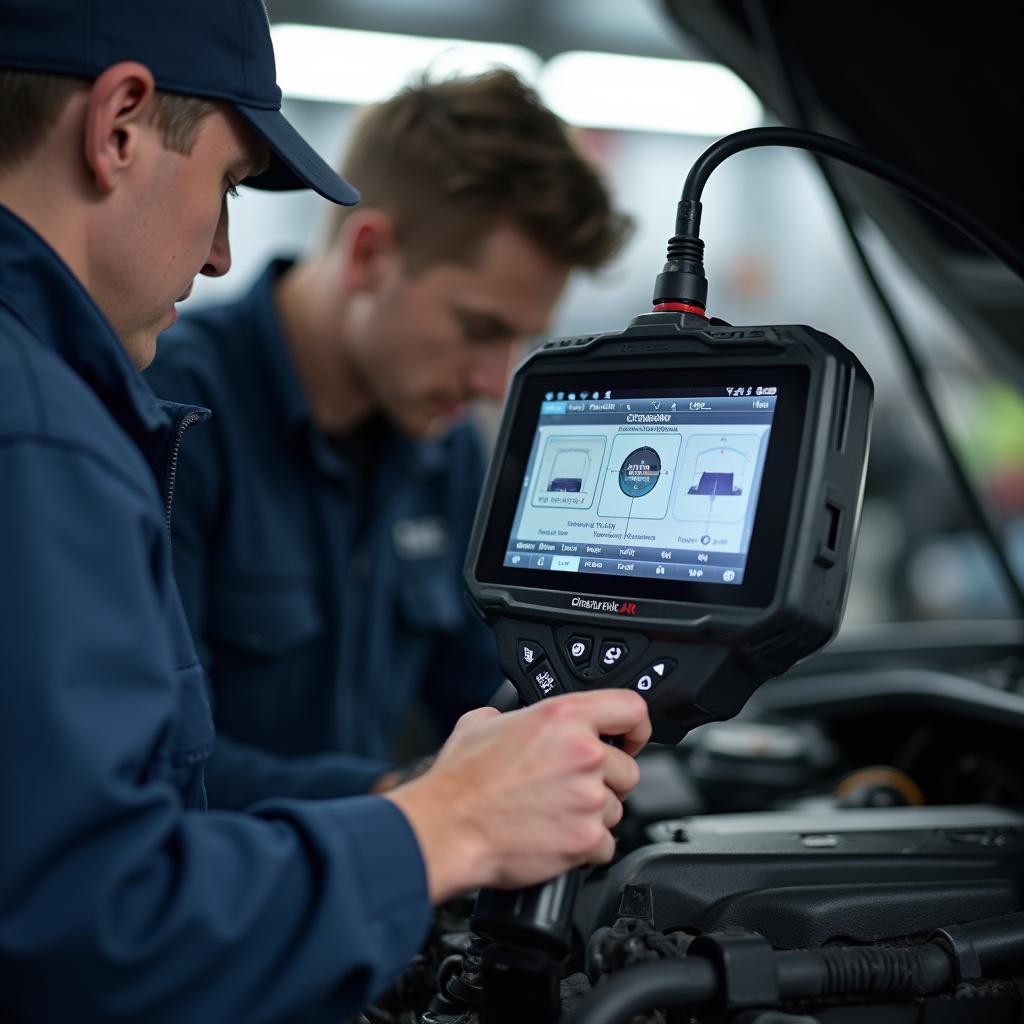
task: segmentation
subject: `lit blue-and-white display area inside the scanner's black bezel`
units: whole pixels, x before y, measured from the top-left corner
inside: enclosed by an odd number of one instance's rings
[[[778,386],[547,391],[506,567],[739,586]]]

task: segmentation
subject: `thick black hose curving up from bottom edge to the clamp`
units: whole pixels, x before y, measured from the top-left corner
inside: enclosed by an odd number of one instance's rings
[[[710,961],[692,957],[638,964],[611,975],[583,999],[565,1024],[623,1024],[651,1007],[690,1007],[718,991]]]

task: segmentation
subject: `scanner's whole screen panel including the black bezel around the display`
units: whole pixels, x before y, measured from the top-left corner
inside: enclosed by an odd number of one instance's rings
[[[477,579],[766,603],[806,394],[796,368],[532,378]]]

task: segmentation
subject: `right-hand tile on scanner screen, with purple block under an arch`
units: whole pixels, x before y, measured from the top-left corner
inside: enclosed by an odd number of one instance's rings
[[[693,434],[679,467],[676,518],[703,524],[742,522],[753,492],[759,434]]]

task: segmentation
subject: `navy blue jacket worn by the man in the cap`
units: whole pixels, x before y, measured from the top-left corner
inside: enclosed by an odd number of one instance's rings
[[[425,933],[388,801],[204,810],[213,724],[167,538],[198,415],[0,208],[3,1020],[336,1021]]]

